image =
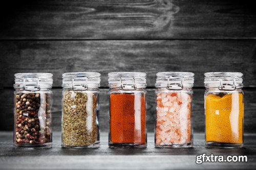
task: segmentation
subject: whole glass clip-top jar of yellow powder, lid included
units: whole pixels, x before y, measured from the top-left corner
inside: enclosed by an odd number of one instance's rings
[[[242,76],[241,72],[205,73],[205,147],[243,147]]]

